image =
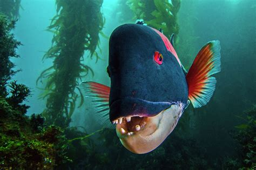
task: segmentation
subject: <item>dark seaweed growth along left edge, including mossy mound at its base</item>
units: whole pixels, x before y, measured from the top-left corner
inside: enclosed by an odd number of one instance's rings
[[[17,71],[10,58],[19,57],[21,45],[10,33],[14,28],[0,13],[0,169],[52,169],[69,161],[66,140],[59,127],[45,126],[42,115],[25,115],[30,89],[11,80]]]

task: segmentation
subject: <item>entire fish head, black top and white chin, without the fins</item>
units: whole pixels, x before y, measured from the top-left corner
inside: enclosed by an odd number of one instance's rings
[[[170,43],[170,42],[169,42]],[[124,24],[109,42],[110,121],[134,153],[158,147],[176,126],[188,90],[179,61],[149,26]]]

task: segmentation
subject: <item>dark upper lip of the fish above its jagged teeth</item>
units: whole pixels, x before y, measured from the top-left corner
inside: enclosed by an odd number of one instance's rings
[[[110,105],[110,121],[122,117],[153,117],[172,105],[166,101],[148,101],[134,97],[117,99]]]

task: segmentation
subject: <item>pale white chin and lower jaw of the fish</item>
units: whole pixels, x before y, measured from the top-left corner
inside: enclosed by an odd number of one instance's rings
[[[143,154],[153,151],[173,131],[183,110],[183,104],[172,105],[154,117],[144,118],[145,125],[140,130],[138,128],[133,130],[134,132],[124,130],[126,126],[118,124],[116,126],[117,135],[123,146],[133,153]]]

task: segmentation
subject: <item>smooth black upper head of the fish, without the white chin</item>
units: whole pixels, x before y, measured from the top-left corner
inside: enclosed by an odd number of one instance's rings
[[[154,59],[156,52],[161,63]],[[173,103],[186,103],[188,90],[178,60],[149,26],[124,24],[109,42],[110,120],[153,117]]]

